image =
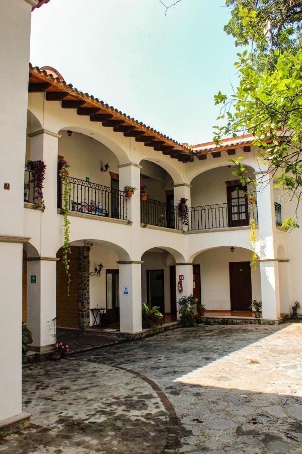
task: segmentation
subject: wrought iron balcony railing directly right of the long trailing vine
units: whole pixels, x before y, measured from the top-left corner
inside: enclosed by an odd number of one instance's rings
[[[67,177],[71,191],[69,210],[96,216],[127,219],[127,198],[123,191]],[[64,182],[58,180],[58,208],[63,207]]]

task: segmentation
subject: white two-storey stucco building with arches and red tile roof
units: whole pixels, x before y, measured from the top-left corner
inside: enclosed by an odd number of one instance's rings
[[[231,316],[249,311],[250,300],[257,298],[262,318],[278,321],[302,298],[301,235],[280,229],[294,202],[274,190],[273,181],[262,181],[265,169],[259,168],[252,137],[225,140],[219,148],[200,144],[192,151],[67,85],[55,70],[28,67],[30,14],[37,4],[5,0],[8,26],[0,32],[16,44],[12,52],[1,40],[2,61],[11,59],[6,65],[11,71],[0,76],[6,86],[0,119],[0,420],[6,422],[26,418],[21,318],[33,333],[32,348],[43,352],[53,343],[49,323],[54,317],[58,326],[84,329],[92,325],[90,309],[97,306],[106,308],[109,322],[119,323],[121,332],[136,333],[142,329],[141,302],[176,316],[178,298],[193,293],[208,311]],[[257,174],[256,204],[232,174],[228,159],[241,155]],[[69,164],[71,185],[69,297],[60,260],[60,157]],[[25,167],[28,160],[46,165],[44,211]],[[140,200],[141,183],[147,201]],[[125,186],[138,188],[131,198]],[[187,219],[177,207],[182,197]],[[255,271],[250,267],[252,218],[259,259]]]

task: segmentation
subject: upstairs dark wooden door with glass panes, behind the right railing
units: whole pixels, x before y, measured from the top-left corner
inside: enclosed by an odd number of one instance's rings
[[[229,227],[249,225],[249,207],[247,187],[241,184],[228,186],[228,220]]]

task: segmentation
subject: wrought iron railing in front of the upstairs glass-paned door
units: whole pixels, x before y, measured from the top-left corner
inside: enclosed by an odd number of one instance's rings
[[[188,230],[209,230],[258,223],[257,204],[228,204],[194,206],[189,210]]]

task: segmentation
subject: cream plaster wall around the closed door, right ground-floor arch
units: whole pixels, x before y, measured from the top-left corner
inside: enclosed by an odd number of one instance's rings
[[[246,262],[252,258],[247,249],[210,249],[195,257],[193,263],[200,265],[201,301],[206,309],[231,310],[230,262]],[[261,299],[260,271],[251,270],[252,298]]]

